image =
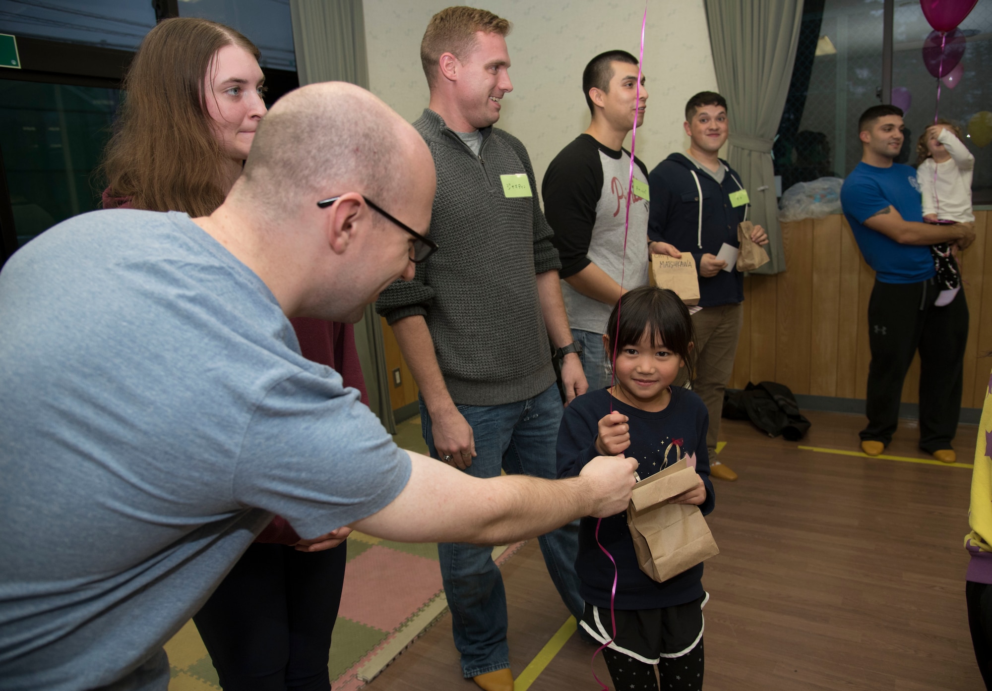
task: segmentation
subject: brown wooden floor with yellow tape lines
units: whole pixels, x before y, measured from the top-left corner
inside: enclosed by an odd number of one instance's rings
[[[808,412],[804,445],[854,450],[858,415]],[[887,454],[918,451],[915,423]],[[977,427],[955,448],[970,463]],[[707,691],[979,691],[964,607],[966,468],[800,450],[723,420],[720,454],[740,474],[714,481],[708,518],[721,553],[706,562]],[[514,675],[568,617],[537,542],[503,568]],[[472,691],[445,615],[369,691]],[[594,648],[572,635],[530,687],[597,689]],[[601,657],[595,662],[606,680]]]

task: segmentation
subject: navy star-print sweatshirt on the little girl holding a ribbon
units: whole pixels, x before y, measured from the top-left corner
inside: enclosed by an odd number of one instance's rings
[[[576,398],[564,409],[558,428],[558,477],[578,475],[590,460],[600,455],[596,449],[599,420],[613,409],[628,417],[630,446],[627,457],[637,458],[641,479],[662,470],[665,449],[681,441],[685,455],[695,455],[695,470],[706,486],[706,501],[699,509],[703,516],[713,511],[713,485],[709,480],[709,457],[706,454],[706,427],[709,415],[698,396],[681,387],[672,387],[672,400],[664,410],[648,412],[613,399],[608,390],[599,389]],[[676,448],[669,452],[675,462]],[[581,580],[582,599],[596,607],[610,606],[613,564],[596,544],[596,518],[581,519],[578,558],[575,571]],[[702,564],[683,571],[664,583],[658,583],[641,571],[634,553],[634,541],[627,528],[627,515],[603,518],[599,526],[599,543],[609,550],[617,564],[618,610],[653,610],[682,605],[702,597]]]

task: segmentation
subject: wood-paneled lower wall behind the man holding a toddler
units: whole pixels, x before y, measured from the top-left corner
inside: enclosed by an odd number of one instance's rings
[[[971,315],[961,404],[981,407],[992,358],[992,212],[975,212],[975,242],[958,255]],[[730,386],[771,380],[795,394],[864,399],[868,298],[875,272],[840,214],[782,225],[788,270],[744,279],[744,327]],[[989,275],[986,278],[986,269]],[[919,402],[920,356],[903,388]]]

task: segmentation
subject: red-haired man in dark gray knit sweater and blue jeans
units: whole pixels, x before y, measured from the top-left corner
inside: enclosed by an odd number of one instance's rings
[[[383,291],[421,389],[424,438],[434,458],[476,477],[556,476],[561,400],[549,337],[570,401],[586,390],[558,284],[553,231],[535,193],[530,158],[493,127],[513,88],[504,36],[484,10],[452,7],[431,20],[421,58],[430,107],[414,123],[434,156],[431,237],[441,248],[409,283]],[[577,521],[540,538],[558,593],[577,617]],[[506,594],[491,548],[438,545],[462,673],[512,691]]]

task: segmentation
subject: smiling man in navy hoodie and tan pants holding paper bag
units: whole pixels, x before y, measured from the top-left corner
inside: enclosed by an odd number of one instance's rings
[[[667,243],[695,260],[702,309],[692,315],[696,357],[692,390],[709,410],[710,475],[736,480],[737,474],[715,459],[723,390],[734,369],[744,319],[744,277],[716,255],[724,243],[738,247],[737,224],[747,218],[748,195],[740,175],[717,157],[729,133],[723,96],[712,91],[692,96],[685,104],[683,127],[690,139],[688,151],[672,154],[648,176],[649,247],[654,253],[668,254]],[[751,239],[768,244],[761,226],[754,227]]]

